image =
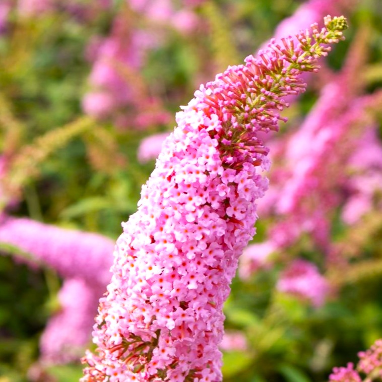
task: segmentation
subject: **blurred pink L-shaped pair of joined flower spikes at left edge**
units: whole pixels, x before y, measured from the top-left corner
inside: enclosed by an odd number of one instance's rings
[[[41,336],[41,357],[43,362],[54,363],[78,359],[90,340],[98,299],[111,278],[113,241],[95,233],[3,215],[0,243],[29,255],[16,255],[19,261],[51,267],[65,280],[58,294],[60,310]]]

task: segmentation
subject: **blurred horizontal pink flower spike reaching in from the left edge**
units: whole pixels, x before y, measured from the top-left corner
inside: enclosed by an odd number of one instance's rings
[[[106,286],[114,243],[100,234],[62,229],[27,218],[3,217],[0,242],[15,245],[63,278]]]

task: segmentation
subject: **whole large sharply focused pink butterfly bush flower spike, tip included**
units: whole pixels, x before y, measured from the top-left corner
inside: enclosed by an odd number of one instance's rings
[[[272,41],[177,113],[138,211],[122,224],[82,381],[222,380],[222,305],[268,186],[257,134],[278,130],[283,97],[303,91],[299,75],[316,72],[327,44],[342,39],[343,17],[325,24],[298,43]]]

